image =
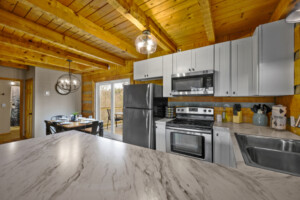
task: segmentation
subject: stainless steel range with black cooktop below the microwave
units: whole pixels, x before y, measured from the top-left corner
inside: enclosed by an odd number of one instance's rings
[[[213,124],[213,108],[176,108],[176,119],[166,123],[167,152],[212,162]]]

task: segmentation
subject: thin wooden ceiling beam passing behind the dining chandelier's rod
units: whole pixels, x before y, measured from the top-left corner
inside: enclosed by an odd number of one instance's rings
[[[59,71],[64,71],[64,72],[69,71],[66,68],[57,67],[57,66],[53,66],[53,65],[48,65],[48,64],[44,64],[44,63],[36,63],[36,62],[33,62],[33,61],[28,61],[28,60],[25,61],[25,60],[22,60],[22,59],[19,59],[19,58],[11,57],[11,56],[0,55],[0,61],[20,64],[20,65],[41,67],[41,68],[52,69],[52,70],[59,70]],[[72,73],[82,73],[81,71],[73,70],[73,69],[71,69],[71,72]]]

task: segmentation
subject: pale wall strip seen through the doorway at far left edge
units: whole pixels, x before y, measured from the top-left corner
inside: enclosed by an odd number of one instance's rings
[[[0,134],[10,132],[10,87],[10,81],[0,80]]]

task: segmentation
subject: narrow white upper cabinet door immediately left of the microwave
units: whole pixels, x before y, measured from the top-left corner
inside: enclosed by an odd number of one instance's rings
[[[172,97],[172,54],[163,56],[163,96]]]

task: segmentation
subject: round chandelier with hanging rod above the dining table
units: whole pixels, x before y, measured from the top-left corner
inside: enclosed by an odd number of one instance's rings
[[[71,73],[71,62],[72,60],[67,60],[69,62],[69,73],[60,76],[56,83],[56,90],[62,91],[64,95],[76,92],[81,85],[81,81],[75,75]]]

